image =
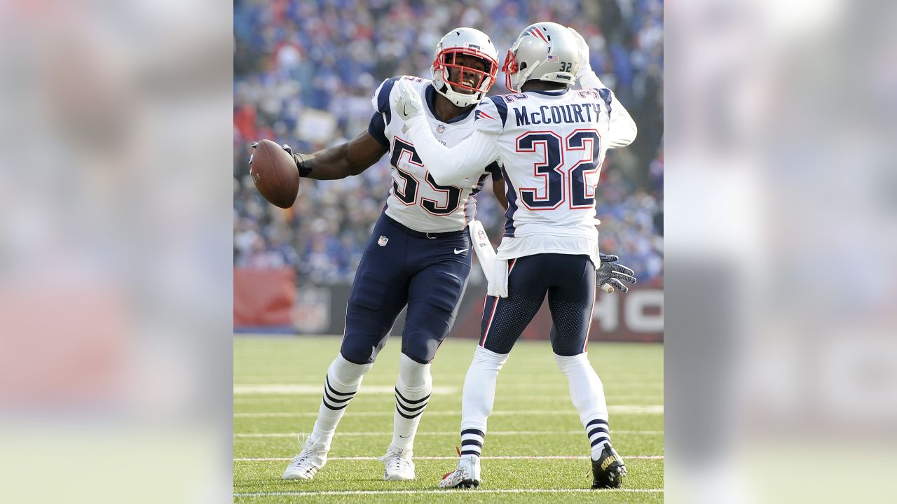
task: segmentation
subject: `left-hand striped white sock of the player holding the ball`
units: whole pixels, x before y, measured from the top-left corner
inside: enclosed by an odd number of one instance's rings
[[[315,444],[323,444],[330,449],[330,441],[334,439],[336,424],[343,418],[345,407],[361,387],[361,378],[373,364],[355,364],[346,361],[342,354],[327,369],[324,378],[324,397],[318,408],[318,420],[311,431],[311,439]]]

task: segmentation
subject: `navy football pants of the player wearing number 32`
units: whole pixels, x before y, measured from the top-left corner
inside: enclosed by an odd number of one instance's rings
[[[510,353],[548,295],[552,349],[566,357],[586,352],[595,306],[595,266],[588,256],[536,254],[508,263],[508,297],[487,296],[480,346]]]

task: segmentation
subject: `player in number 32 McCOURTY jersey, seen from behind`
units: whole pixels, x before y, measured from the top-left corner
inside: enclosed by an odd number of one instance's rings
[[[575,30],[537,22],[520,33],[503,68],[512,94],[483,100],[476,130],[449,148],[436,141],[416,93],[400,83],[396,111],[439,184],[470,178],[497,162],[509,210],[474,361],[467,371],[461,460],[440,487],[475,487],[495,380],[519,335],[547,295],[555,360],[591,444],[592,488],[620,486],[623,459],[610,443],[604,388],[588,362],[588,327],[598,257],[595,187],[608,148],[629,145],[636,126],[592,72]],[[571,89],[579,81],[581,90]],[[449,162],[450,161],[450,162]]]

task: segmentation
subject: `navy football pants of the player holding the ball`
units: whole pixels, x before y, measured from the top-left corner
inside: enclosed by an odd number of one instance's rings
[[[373,362],[407,305],[402,353],[422,364],[432,361],[455,323],[470,254],[466,228],[428,235],[381,214],[349,294],[340,348],[345,360]]]

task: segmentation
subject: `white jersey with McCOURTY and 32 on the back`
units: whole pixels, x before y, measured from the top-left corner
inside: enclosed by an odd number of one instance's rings
[[[635,137],[635,124],[606,89],[526,91],[483,100],[477,130],[497,135],[508,190],[497,256],[584,254],[597,265],[595,188],[608,148]]]

